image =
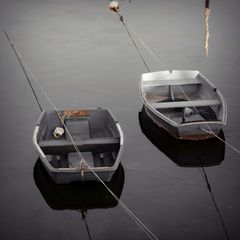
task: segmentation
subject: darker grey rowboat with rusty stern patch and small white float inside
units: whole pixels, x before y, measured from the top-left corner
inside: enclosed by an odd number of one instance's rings
[[[34,147],[49,175],[56,183],[96,181],[86,167],[80,171],[80,158],[66,129],[54,137],[56,128],[63,128],[59,116],[87,165],[105,182],[111,180],[123,152],[123,132],[108,109],[43,111],[33,133]]]

